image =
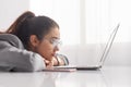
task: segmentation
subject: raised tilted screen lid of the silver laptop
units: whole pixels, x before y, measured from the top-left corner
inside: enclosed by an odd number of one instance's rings
[[[112,46],[112,42],[115,40],[115,37],[116,37],[116,34],[118,32],[118,28],[119,28],[120,24],[118,24],[115,29],[112,30],[112,33],[110,34],[110,37],[105,46],[105,49],[104,49],[104,52],[103,52],[103,55],[102,55],[102,59],[99,60],[99,66],[103,66],[108,53],[109,53],[109,50]]]

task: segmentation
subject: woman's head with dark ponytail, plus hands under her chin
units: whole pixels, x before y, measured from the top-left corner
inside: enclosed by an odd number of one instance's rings
[[[60,32],[59,25],[52,18],[44,15],[35,16],[33,12],[27,11],[7,33],[17,36],[26,50],[40,54],[47,67],[66,65],[64,60],[56,55],[59,51]]]

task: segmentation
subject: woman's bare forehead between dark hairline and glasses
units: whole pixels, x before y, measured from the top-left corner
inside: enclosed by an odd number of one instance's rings
[[[50,29],[50,32],[45,36],[45,38],[60,38],[59,28]]]

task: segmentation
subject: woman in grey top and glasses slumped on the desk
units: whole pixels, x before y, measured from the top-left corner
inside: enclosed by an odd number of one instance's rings
[[[47,16],[23,13],[0,34],[0,71],[41,71],[69,64],[59,51],[59,25]]]

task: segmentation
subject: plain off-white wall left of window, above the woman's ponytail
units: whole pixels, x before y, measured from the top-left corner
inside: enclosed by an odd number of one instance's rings
[[[0,30],[7,29],[24,11],[28,10],[28,0],[0,0]]]

